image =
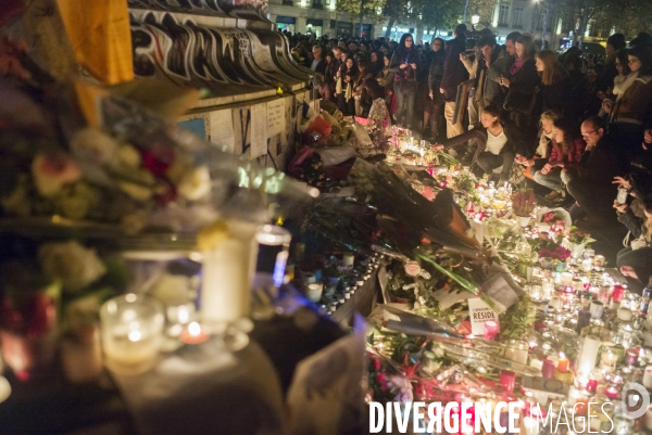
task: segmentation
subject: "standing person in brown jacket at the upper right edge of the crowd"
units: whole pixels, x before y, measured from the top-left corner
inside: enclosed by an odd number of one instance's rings
[[[618,139],[622,152],[631,161],[640,151],[643,125],[652,104],[652,49],[634,47],[627,52],[627,64],[631,73],[623,84],[625,89],[616,101],[603,102],[602,107],[610,114],[610,135]]]

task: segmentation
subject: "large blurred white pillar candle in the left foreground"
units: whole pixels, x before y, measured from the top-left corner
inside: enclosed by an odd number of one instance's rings
[[[254,223],[228,220],[211,248],[203,251],[201,317],[205,323],[230,322],[248,316],[256,228]]]

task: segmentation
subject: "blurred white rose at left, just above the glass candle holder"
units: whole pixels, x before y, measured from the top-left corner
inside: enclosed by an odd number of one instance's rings
[[[63,287],[78,292],[106,273],[95,250],[79,243],[46,243],[38,250],[38,260],[48,276],[61,280]]]

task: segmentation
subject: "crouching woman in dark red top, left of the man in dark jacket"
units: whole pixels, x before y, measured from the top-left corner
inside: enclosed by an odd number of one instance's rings
[[[563,183],[568,182],[562,177],[562,169],[577,167],[587,143],[581,138],[579,127],[568,118],[553,121],[552,137],[552,152],[548,163],[535,172],[535,181],[552,190],[546,195],[547,200],[556,201],[564,196]]]

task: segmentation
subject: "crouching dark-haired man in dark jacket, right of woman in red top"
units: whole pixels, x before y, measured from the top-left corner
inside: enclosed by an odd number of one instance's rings
[[[624,174],[626,163],[607,140],[601,117],[591,116],[585,120],[581,136],[587,146],[579,164],[574,169],[564,169],[562,174],[568,194],[575,199],[570,217],[575,221],[581,215],[590,214],[598,219],[609,219],[617,194],[612,180]]]

